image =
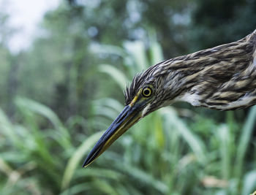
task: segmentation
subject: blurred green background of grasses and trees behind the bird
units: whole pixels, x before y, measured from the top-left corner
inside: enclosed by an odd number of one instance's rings
[[[83,160],[132,77],[256,28],[255,0],[1,0],[0,194],[250,194],[256,107],[176,103]]]

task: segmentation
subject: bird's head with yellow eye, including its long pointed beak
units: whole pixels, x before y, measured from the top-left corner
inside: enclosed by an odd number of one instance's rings
[[[162,77],[156,74],[157,65],[151,66],[145,72],[137,74],[131,85],[124,91],[126,106],[115,121],[105,131],[83,163],[87,167],[99,157],[118,137],[124,134],[140,118],[162,107],[165,103]],[[162,98],[162,99],[159,99]]]

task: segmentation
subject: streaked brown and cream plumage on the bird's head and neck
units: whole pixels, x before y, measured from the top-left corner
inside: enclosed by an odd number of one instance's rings
[[[148,112],[173,101],[216,110],[256,104],[255,49],[256,30],[237,42],[162,61],[134,77],[126,104],[148,84],[156,90]]]

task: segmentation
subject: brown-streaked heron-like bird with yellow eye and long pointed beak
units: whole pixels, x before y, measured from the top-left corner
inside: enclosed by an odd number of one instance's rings
[[[124,110],[94,145],[83,167],[146,115],[173,102],[213,110],[256,104],[256,29],[236,42],[150,66],[135,75],[124,96]]]

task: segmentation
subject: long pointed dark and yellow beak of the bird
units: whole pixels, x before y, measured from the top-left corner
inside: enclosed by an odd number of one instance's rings
[[[97,157],[99,157],[118,137],[124,134],[133,124],[141,118],[141,112],[135,105],[127,105],[118,115],[115,121],[105,131],[99,141],[94,145],[91,152],[83,163],[83,167],[87,167]]]

